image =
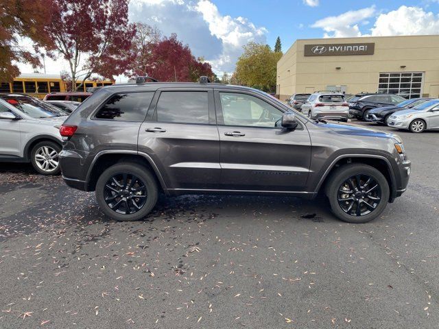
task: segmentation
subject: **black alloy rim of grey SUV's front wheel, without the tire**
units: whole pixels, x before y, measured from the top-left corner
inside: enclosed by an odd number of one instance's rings
[[[346,214],[362,217],[374,211],[381,202],[381,188],[372,176],[357,174],[342,183],[337,200]]]

